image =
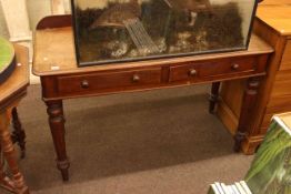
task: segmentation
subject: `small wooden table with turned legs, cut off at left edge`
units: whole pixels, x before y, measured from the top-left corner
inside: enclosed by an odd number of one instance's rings
[[[24,151],[24,132],[18,119],[17,105],[27,94],[27,86],[29,85],[28,50],[21,45],[14,45],[14,49],[17,68],[10,78],[0,85],[0,150],[11,172],[11,177],[9,177],[3,170],[1,161],[0,186],[12,193],[29,194],[23,175],[19,171],[13,146],[13,141],[20,141],[19,145]],[[10,134],[9,130],[11,120],[16,129],[13,135]]]

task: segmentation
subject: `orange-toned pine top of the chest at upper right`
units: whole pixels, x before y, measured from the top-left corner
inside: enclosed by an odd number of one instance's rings
[[[261,4],[257,17],[281,35],[291,35],[291,0],[290,4]]]

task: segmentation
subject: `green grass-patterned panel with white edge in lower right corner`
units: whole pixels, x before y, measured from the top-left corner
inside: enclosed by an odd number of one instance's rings
[[[245,176],[255,194],[291,194],[291,132],[275,118]]]

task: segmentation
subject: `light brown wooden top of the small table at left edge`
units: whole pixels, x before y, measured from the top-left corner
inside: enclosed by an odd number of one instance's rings
[[[17,67],[10,78],[4,83],[0,84],[0,108],[4,101],[13,96],[20,90],[26,89],[29,84],[28,49],[17,44],[14,44],[14,49]]]

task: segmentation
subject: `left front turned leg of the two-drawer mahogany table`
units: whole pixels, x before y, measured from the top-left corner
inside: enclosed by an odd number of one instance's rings
[[[49,123],[51,135],[54,143],[54,149],[57,152],[57,166],[61,171],[62,180],[69,181],[69,166],[70,162],[67,156],[66,151],[66,140],[64,140],[64,116],[62,110],[62,101],[47,101]]]

